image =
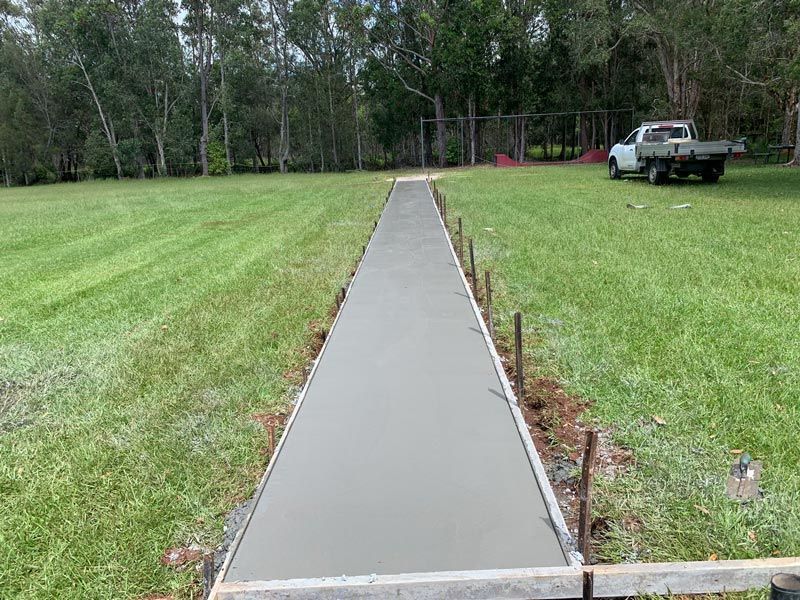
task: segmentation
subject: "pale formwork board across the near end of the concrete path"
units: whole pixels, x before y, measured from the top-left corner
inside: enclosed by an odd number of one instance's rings
[[[597,598],[711,594],[765,588],[777,573],[800,575],[800,557],[226,582],[216,598],[559,600],[581,597],[584,570],[594,573]]]

